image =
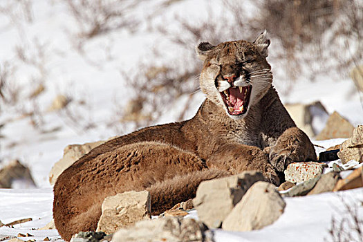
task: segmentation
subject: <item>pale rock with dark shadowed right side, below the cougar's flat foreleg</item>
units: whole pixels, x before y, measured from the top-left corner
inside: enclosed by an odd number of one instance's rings
[[[261,173],[245,171],[236,176],[203,181],[193,200],[199,219],[208,227],[220,227],[234,205],[259,180],[264,180]]]

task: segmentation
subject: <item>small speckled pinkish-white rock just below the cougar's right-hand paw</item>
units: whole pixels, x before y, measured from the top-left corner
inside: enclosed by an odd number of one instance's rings
[[[291,183],[301,183],[322,174],[324,167],[328,167],[322,162],[294,162],[288,165],[284,172],[285,180]]]

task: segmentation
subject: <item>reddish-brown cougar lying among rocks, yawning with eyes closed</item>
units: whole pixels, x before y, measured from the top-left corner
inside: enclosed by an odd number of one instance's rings
[[[272,86],[270,39],[196,47],[206,99],[194,118],[140,129],[96,147],[68,167],[54,186],[53,216],[63,239],[95,230],[106,196],[151,194],[160,214],[193,198],[203,180],[261,171],[279,185],[292,161],[316,160]]]

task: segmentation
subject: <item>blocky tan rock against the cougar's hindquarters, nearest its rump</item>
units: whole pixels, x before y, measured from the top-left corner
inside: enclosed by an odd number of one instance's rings
[[[96,231],[111,234],[122,226],[151,218],[151,200],[147,191],[124,192],[109,196],[102,203],[102,215]]]

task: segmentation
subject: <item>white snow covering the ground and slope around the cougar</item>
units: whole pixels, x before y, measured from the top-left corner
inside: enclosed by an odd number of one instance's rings
[[[30,3],[30,7],[23,2]],[[207,17],[204,14],[207,4],[221,4],[220,1],[207,0],[176,1],[167,12],[163,12],[153,9],[153,4],[158,2],[146,1],[145,6],[129,13],[142,21],[134,32],[120,29],[80,42],[81,27],[66,1],[0,1],[0,73],[8,69],[12,77],[10,88],[19,89],[17,102],[0,106],[0,127],[4,124],[0,128],[0,167],[12,159],[19,159],[30,167],[38,187],[0,189],[1,222],[32,218],[32,221],[14,228],[0,227],[0,234],[28,232],[37,240],[46,236],[57,238],[55,230],[32,229],[43,227],[52,217],[53,194],[48,173],[53,164],[62,158],[64,147],[132,131],[130,127],[109,125],[131,95],[127,80],[120,73],[150,57],[156,43],[158,46],[165,44],[163,51],[167,57],[180,55],[180,49],[167,44],[168,39],[160,32],[147,30],[149,12],[156,13],[154,22],[165,22],[172,28],[176,12],[198,19]],[[246,8],[251,10],[247,12],[252,14],[253,1],[246,2]],[[274,48],[277,46],[272,42],[269,50],[272,56]],[[283,71],[276,70],[281,64],[273,58],[270,62],[272,70],[278,74],[274,84],[284,103],[319,100],[329,113],[338,111],[353,125],[363,124],[360,96],[348,77],[337,80],[328,73],[310,82],[308,74],[302,73],[296,82],[290,84],[283,78]],[[178,65],[178,62],[175,64]],[[44,85],[45,91],[35,99],[29,98],[39,84]],[[62,111],[47,111],[58,94],[71,97],[73,104],[80,104],[73,111],[75,121],[66,118]],[[194,93],[185,118],[194,115],[203,98],[202,93]],[[180,103],[186,100],[185,96],[176,100],[172,104],[173,109],[162,114],[158,123],[175,121],[178,112],[173,110],[178,110]],[[87,122],[97,125],[93,129],[82,129]],[[322,129],[321,126],[315,128]],[[339,142],[342,140],[315,144],[328,148]],[[362,189],[339,194],[348,202],[363,199]],[[342,207],[342,201],[333,193],[286,198],[286,202],[286,212],[273,225],[244,233],[215,230],[216,241],[322,241],[324,237],[328,238],[331,216],[344,216],[344,212],[337,211],[337,207]]]

